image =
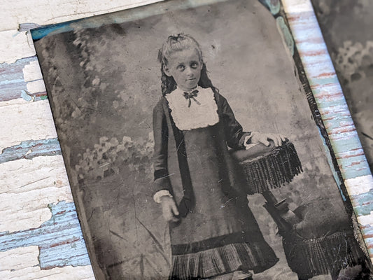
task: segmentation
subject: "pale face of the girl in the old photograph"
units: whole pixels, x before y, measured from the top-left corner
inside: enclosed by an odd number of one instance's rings
[[[197,50],[179,50],[172,53],[168,61],[169,63],[164,66],[164,73],[173,77],[181,90],[189,92],[197,87],[202,70]]]

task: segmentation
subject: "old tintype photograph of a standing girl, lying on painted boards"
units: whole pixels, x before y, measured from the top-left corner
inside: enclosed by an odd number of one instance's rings
[[[370,279],[280,1],[32,36],[97,279]]]

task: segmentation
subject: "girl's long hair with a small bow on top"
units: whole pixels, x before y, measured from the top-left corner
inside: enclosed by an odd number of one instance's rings
[[[173,52],[187,50],[190,48],[195,48],[195,50],[197,50],[199,59],[202,62],[201,77],[199,78],[198,85],[204,88],[211,87],[211,90],[213,90],[213,92],[219,92],[219,90],[213,86],[209,76],[207,76],[206,64],[202,59],[202,50],[199,46],[199,43],[192,36],[180,33],[177,35],[169,36],[169,38],[167,38],[167,41],[163,43],[162,48],[160,48],[158,52],[158,60],[161,64],[160,71],[162,73],[161,87],[163,96],[169,94],[170,92],[176,89],[176,82],[174,78],[172,76],[167,76],[166,73],[164,73],[164,66],[168,64],[167,58]]]

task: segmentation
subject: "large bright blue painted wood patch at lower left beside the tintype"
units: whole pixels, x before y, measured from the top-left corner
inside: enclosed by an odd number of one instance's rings
[[[73,202],[49,204],[52,218],[39,228],[0,233],[0,251],[38,246],[41,269],[90,265]]]

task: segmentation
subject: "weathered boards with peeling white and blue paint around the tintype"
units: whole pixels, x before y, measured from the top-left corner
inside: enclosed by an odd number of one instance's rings
[[[0,24],[0,278],[93,279],[45,87],[20,23],[64,22],[155,1],[18,1]],[[309,0],[284,0],[297,48],[373,257],[373,180]],[[53,6],[51,6],[53,5]]]

